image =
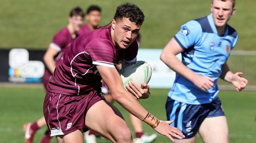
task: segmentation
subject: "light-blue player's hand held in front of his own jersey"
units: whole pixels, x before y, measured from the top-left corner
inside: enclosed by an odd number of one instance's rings
[[[196,75],[194,76],[192,82],[203,91],[207,91],[208,89],[214,87],[213,81],[214,80],[210,77]]]

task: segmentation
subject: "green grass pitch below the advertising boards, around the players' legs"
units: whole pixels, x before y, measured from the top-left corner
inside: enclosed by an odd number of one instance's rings
[[[159,119],[166,119],[165,100],[168,90],[151,89],[151,97],[140,100],[140,103]],[[43,115],[42,106],[45,91],[43,87],[0,87],[0,138],[1,143],[24,143],[22,125],[32,122]],[[230,129],[230,143],[256,142],[256,96],[255,92],[221,91],[222,100]],[[127,112],[117,105],[123,116],[129,121]],[[130,126],[130,123],[128,122]],[[144,124],[144,131],[155,133],[151,127]],[[45,128],[37,132],[34,142],[40,141]],[[52,139],[56,143],[56,139]],[[98,143],[110,143],[105,139],[97,139]],[[159,135],[154,143],[170,143]],[[198,138],[198,143],[202,143]]]

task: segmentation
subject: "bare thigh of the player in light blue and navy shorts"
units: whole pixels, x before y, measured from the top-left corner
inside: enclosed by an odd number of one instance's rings
[[[206,118],[199,128],[204,143],[228,143],[228,123],[226,116]]]

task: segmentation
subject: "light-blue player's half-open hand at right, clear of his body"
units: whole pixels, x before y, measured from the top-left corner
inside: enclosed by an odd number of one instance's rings
[[[242,91],[248,84],[248,80],[241,77],[242,74],[243,72],[236,72],[231,79],[231,83],[235,86],[235,90],[237,91]]]

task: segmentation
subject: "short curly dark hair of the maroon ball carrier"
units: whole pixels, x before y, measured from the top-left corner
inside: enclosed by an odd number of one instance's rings
[[[144,21],[144,14],[137,5],[125,3],[116,8],[114,20],[121,20],[122,18],[129,18],[131,22],[136,25],[142,25]]]

